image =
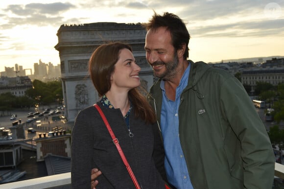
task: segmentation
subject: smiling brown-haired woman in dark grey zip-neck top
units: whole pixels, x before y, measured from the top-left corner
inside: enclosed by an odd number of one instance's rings
[[[97,47],[89,63],[91,79],[102,96],[97,104],[118,138],[140,187],[165,189],[165,182],[156,170],[153,158],[157,162],[159,160],[152,157],[153,152],[163,150],[163,144],[158,140],[155,113],[137,90],[140,86],[140,70],[131,47],[122,43]],[[96,179],[99,182],[96,189],[135,188],[94,106],[77,115],[72,130],[71,150],[72,188],[90,189],[93,167],[102,172]],[[163,159],[161,156],[159,158]]]

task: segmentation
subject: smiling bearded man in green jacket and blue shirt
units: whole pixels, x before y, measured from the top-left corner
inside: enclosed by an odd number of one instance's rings
[[[187,60],[190,36],[178,16],[155,13],[145,27],[146,59],[160,78],[148,100],[161,128],[168,182],[177,189],[272,188],[271,143],[242,84]]]

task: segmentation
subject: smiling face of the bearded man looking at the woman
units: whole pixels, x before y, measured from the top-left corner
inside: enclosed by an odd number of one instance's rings
[[[178,57],[171,44],[171,36],[165,27],[150,29],[145,39],[146,59],[152,66],[154,75],[162,79],[171,79],[176,74]]]

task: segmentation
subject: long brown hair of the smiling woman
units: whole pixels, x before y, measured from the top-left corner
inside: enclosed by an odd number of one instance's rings
[[[110,78],[115,70],[115,64],[118,62],[120,51],[124,48],[132,52],[129,45],[120,42],[100,45],[93,52],[89,61],[89,72],[95,89],[100,96],[110,90]],[[128,97],[133,104],[136,118],[140,117],[150,123],[156,121],[154,110],[137,88],[131,89],[128,92]]]

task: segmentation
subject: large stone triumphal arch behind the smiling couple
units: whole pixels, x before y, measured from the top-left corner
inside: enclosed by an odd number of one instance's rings
[[[149,90],[153,84],[153,71],[145,59],[146,30],[141,24],[92,23],[61,25],[58,44],[65,104],[65,117],[74,121],[78,112],[99,99],[88,74],[88,64],[96,47],[107,42],[131,45],[137,64],[141,67],[142,86]]]

